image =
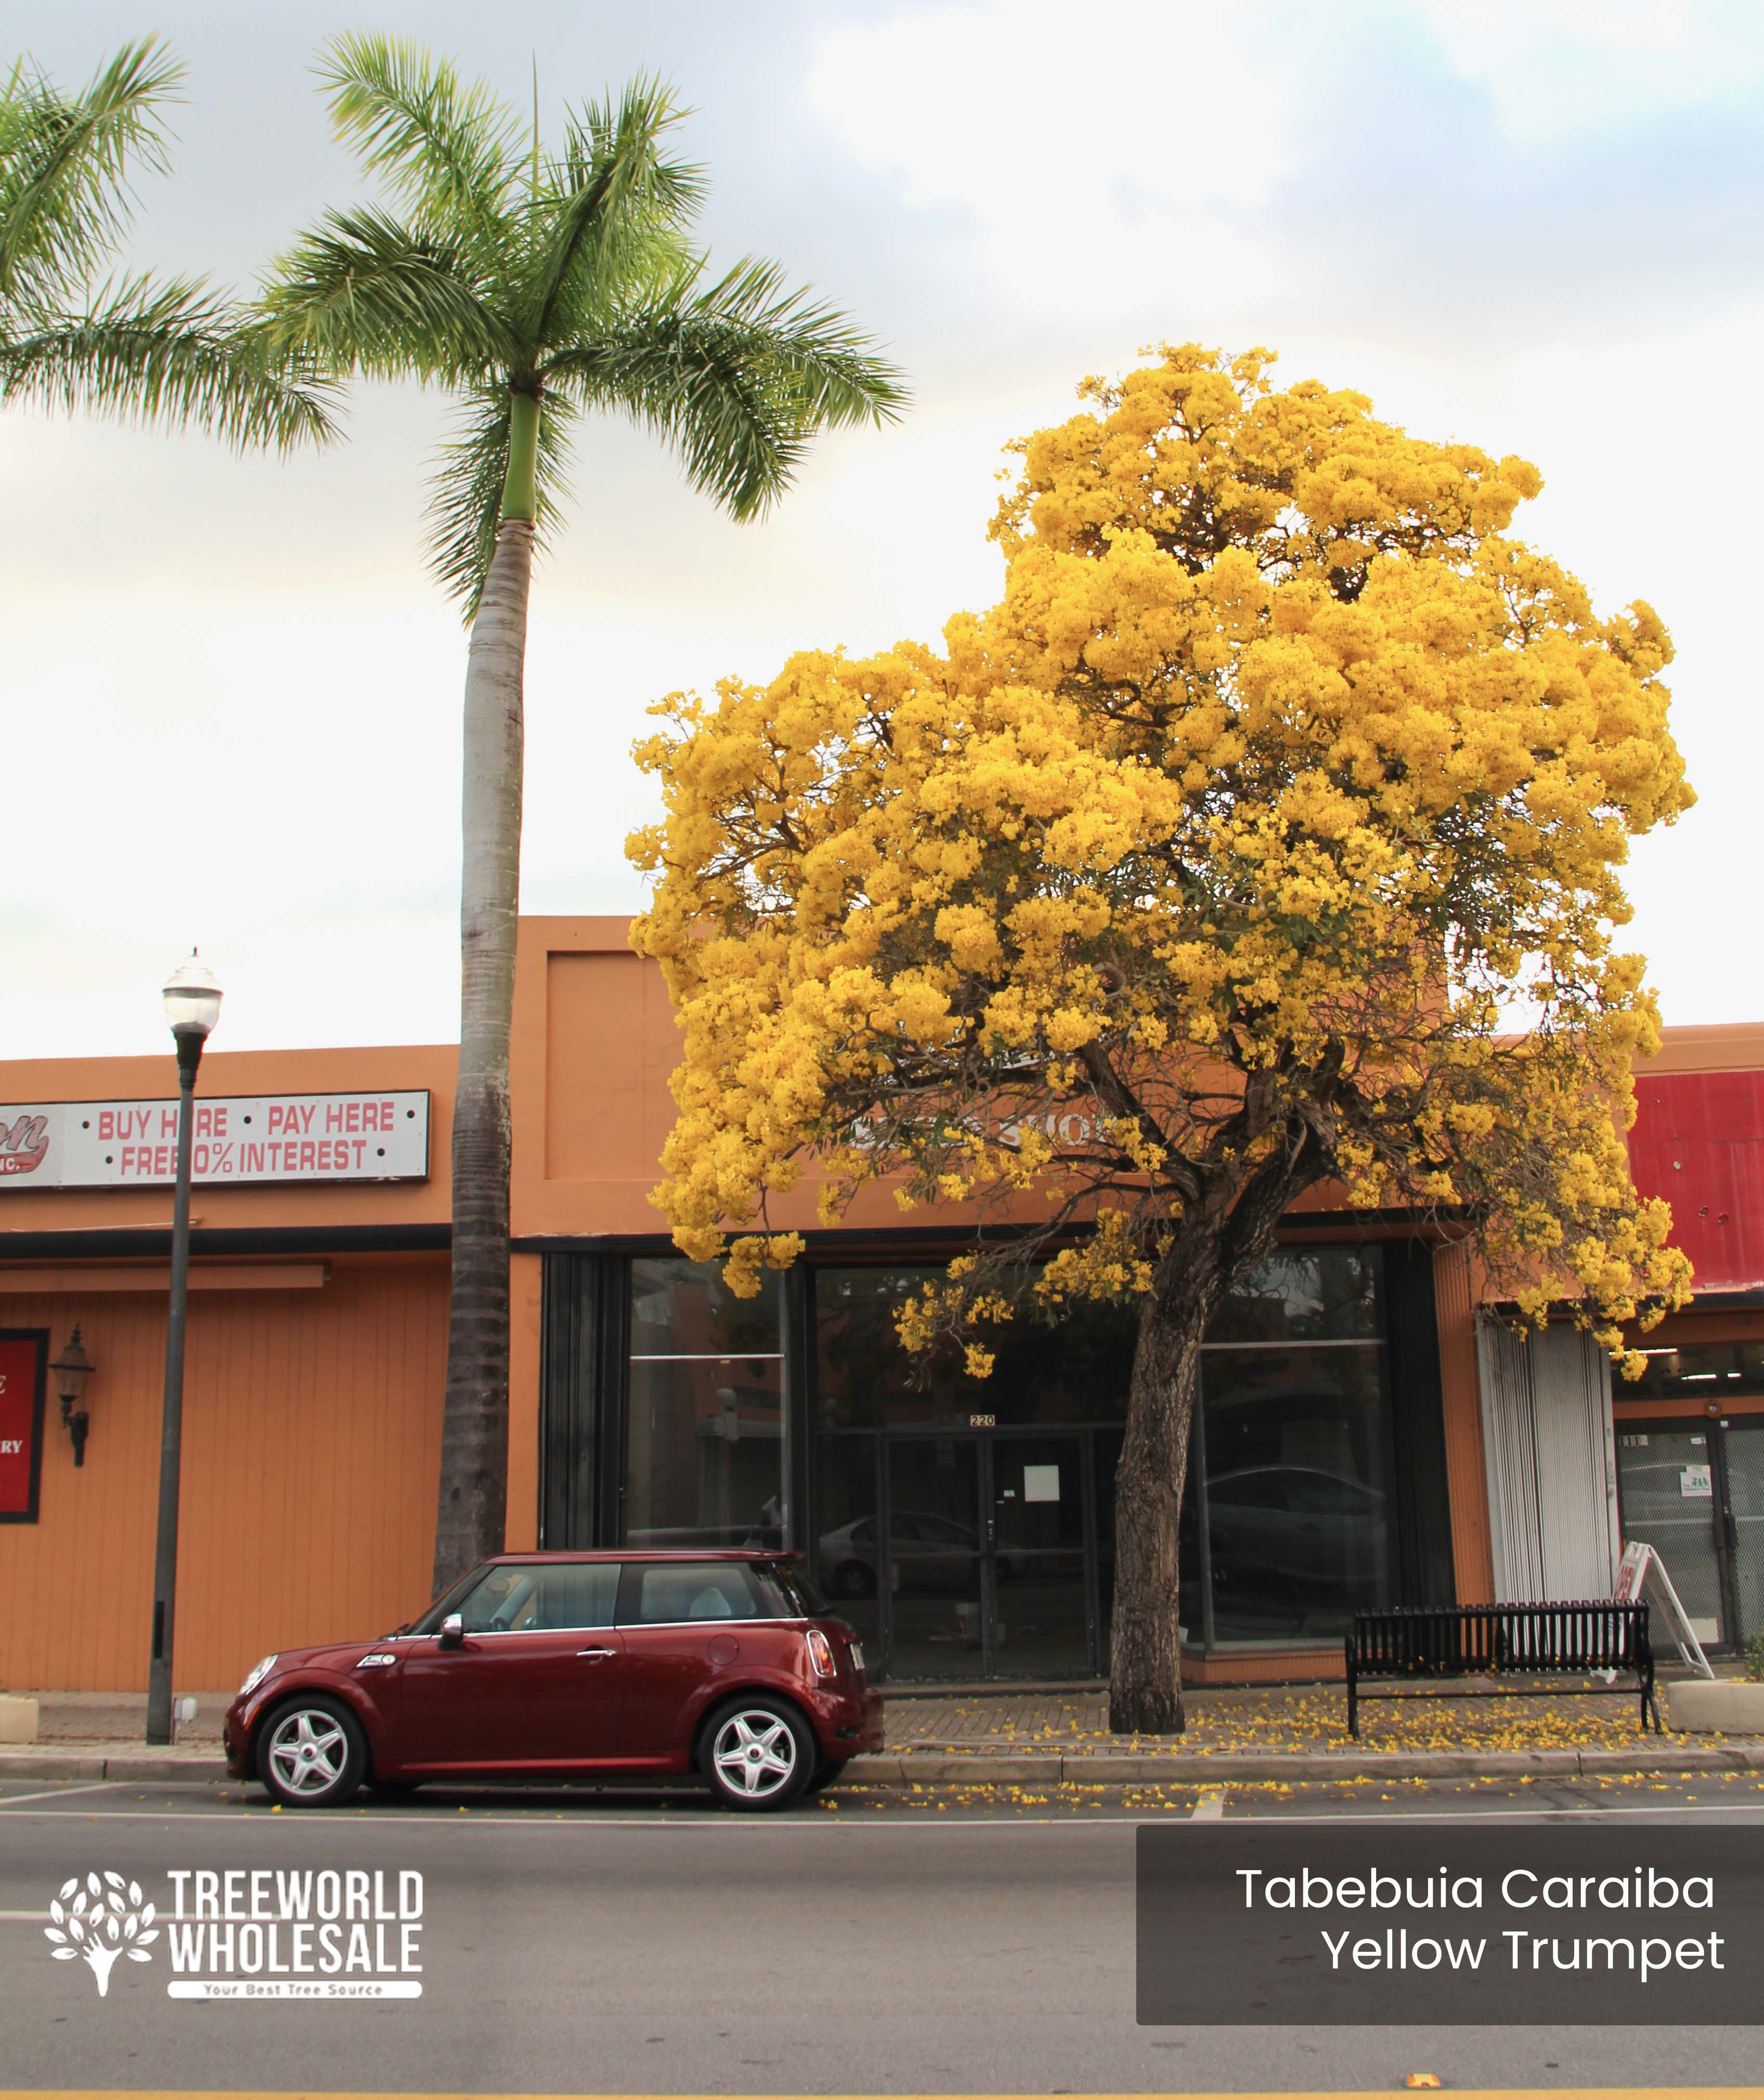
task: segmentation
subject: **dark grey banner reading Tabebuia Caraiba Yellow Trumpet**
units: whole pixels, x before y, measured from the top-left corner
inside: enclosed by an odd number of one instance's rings
[[[1147,1825],[1142,2026],[1764,2024],[1764,1825]]]

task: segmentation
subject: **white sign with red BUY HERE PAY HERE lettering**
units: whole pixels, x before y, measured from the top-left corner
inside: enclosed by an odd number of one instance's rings
[[[8,1189],[155,1189],[178,1170],[176,1100],[0,1102]],[[426,1180],[428,1092],[195,1100],[191,1180]]]

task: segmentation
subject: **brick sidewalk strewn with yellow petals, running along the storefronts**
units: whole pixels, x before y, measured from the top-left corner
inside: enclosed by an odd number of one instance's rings
[[[1319,1779],[1634,1777],[1760,1772],[1764,1737],[1642,1735],[1630,1697],[1378,1701],[1346,1728],[1340,1686],[1191,1690],[1174,1739],[1113,1735],[1100,1688],[895,1688],[888,1741],[857,1758],[865,1785],[1220,1785]],[[0,1745],[0,1779],[214,1781],[229,1695],[197,1695],[185,1741],[143,1743],[145,1699],[124,1693],[38,1693],[40,1741]]]

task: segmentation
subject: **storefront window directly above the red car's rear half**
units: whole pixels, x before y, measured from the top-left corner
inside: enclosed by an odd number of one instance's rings
[[[781,1277],[737,1298],[714,1262],[632,1262],[626,1422],[626,1546],[781,1546]]]

